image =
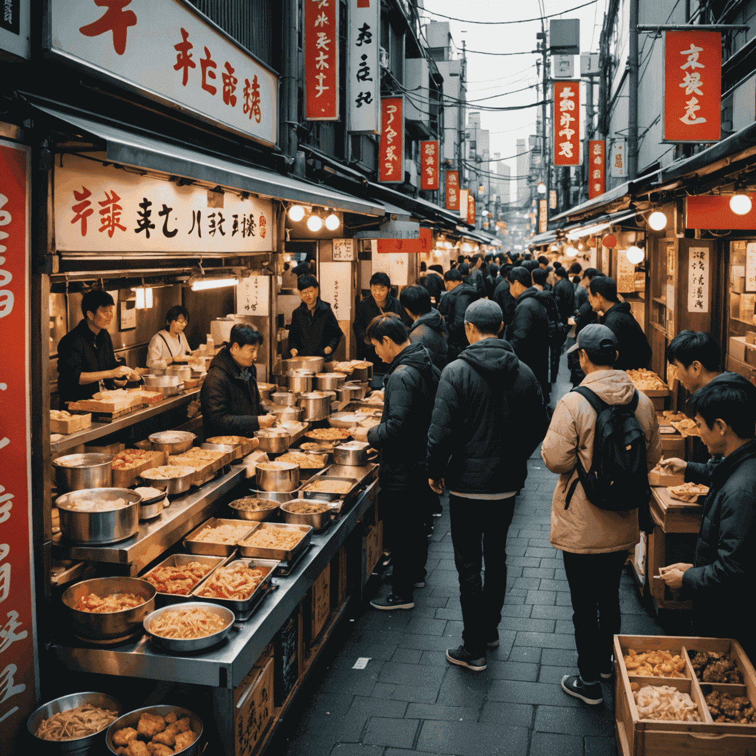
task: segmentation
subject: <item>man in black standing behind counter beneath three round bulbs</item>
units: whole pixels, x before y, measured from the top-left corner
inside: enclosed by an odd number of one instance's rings
[[[289,351],[292,357],[333,355],[343,336],[328,302],[321,299],[321,285],[309,274],[296,282],[302,304],[291,314]]]

